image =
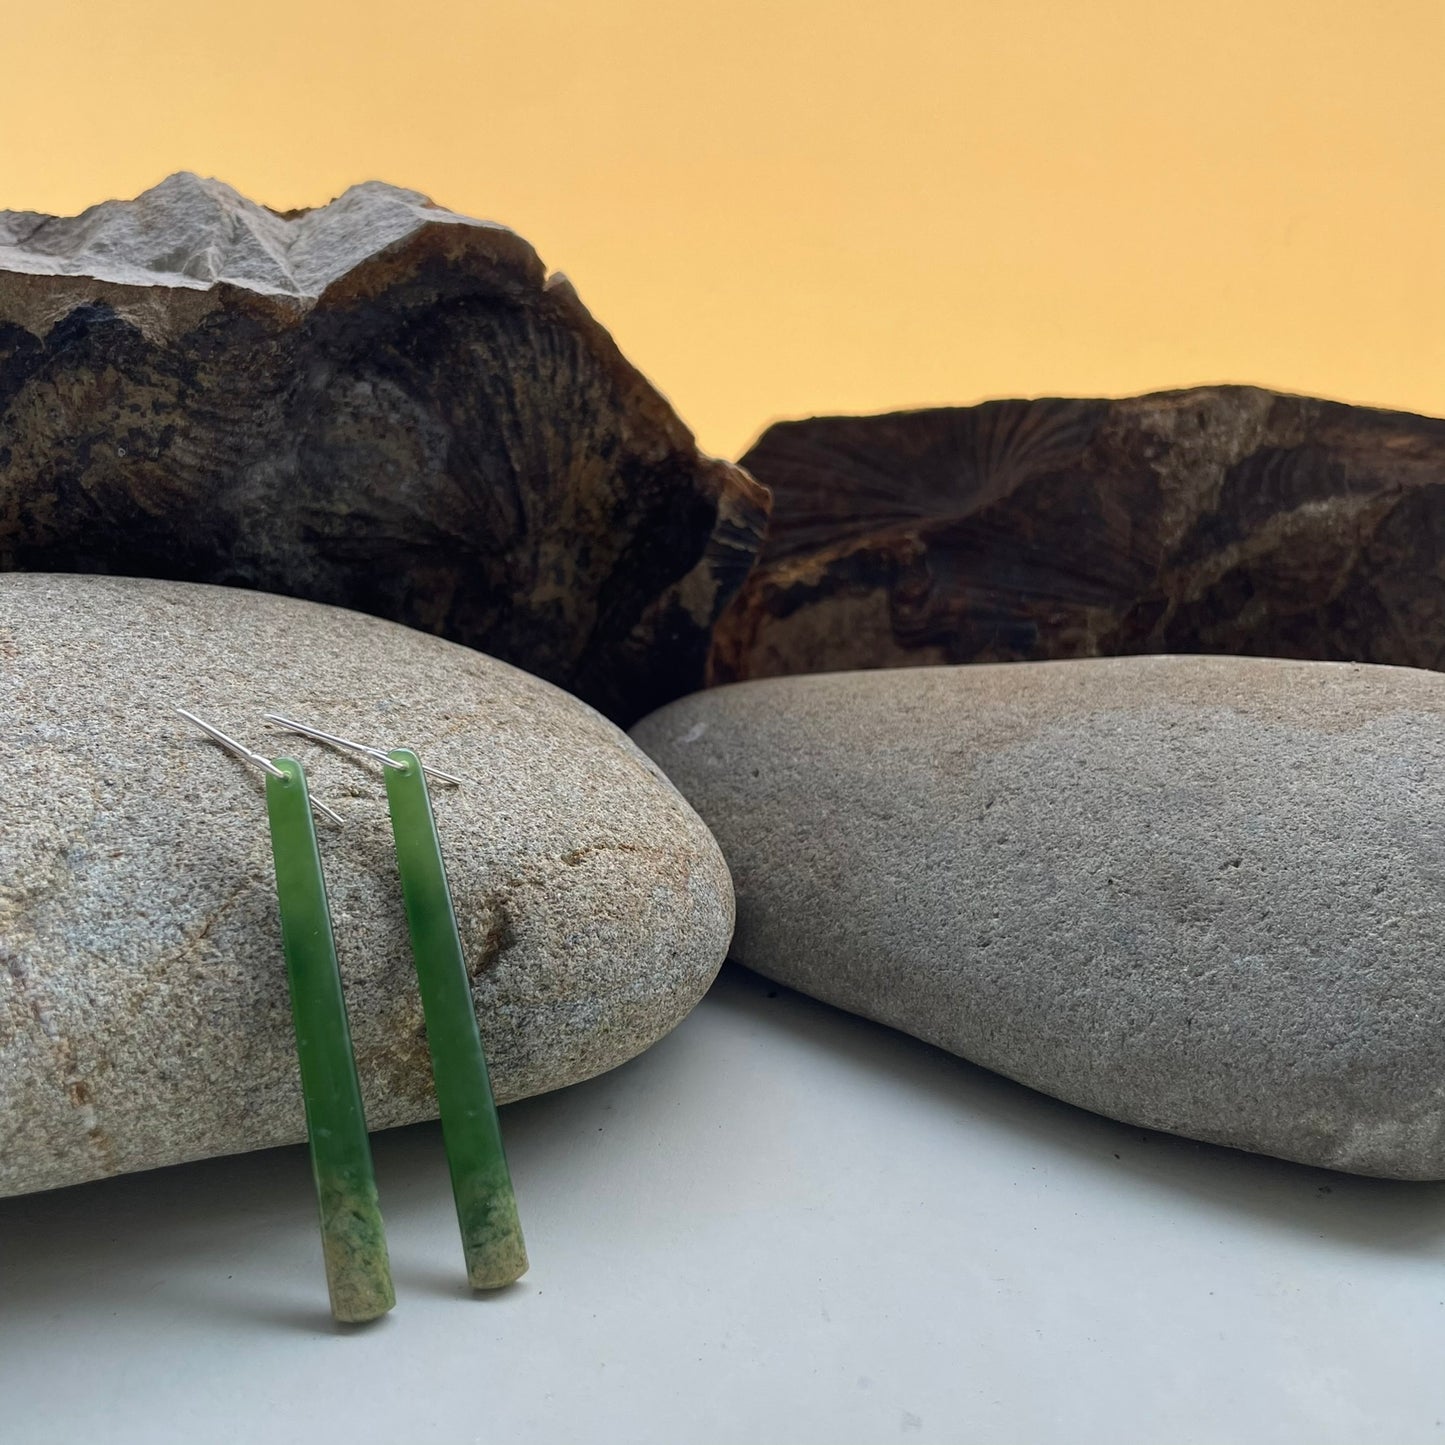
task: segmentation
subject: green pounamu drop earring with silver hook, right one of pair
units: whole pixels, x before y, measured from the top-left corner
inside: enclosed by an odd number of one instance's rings
[[[273,712],[266,714],[266,721],[321,743],[363,753],[384,764],[396,864],[402,876],[412,957],[426,1019],[436,1107],[442,1120],[452,1195],[457,1199],[467,1277],[473,1289],[500,1289],[526,1273],[527,1248],[517,1218],[512,1173],[501,1147],[501,1129],[491,1097],[487,1056],[477,1029],[471,980],[457,932],[436,819],[426,792],[428,776],[452,785],[461,779],[426,767],[405,747],[383,753],[379,747],[351,743]]]

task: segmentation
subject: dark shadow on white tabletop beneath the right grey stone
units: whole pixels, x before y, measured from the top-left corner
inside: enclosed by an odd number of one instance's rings
[[[1445,1182],[1376,1179],[1123,1124],[968,1064],[910,1035],[728,964],[708,1007],[779,1049],[803,1049],[876,1077],[900,1108],[952,1114],[985,1136],[1026,1142],[1039,1165],[1149,1191],[1165,1209],[1247,1215],[1280,1231],[1370,1251],[1438,1259]]]

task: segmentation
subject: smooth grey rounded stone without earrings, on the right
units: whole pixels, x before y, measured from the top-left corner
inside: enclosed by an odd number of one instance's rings
[[[1133,1124],[1445,1178],[1445,678],[831,673],[633,736],[731,861],[747,967]]]

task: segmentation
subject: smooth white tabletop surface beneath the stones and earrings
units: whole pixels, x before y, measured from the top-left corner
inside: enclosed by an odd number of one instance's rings
[[[503,1111],[532,1273],[468,1296],[376,1137],[396,1311],[325,1311],[303,1149],[0,1201],[0,1441],[1445,1438],[1445,1186],[1129,1129],[727,971]]]

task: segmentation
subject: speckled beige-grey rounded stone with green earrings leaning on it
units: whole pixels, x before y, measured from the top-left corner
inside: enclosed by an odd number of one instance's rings
[[[301,759],[373,1129],[435,1113],[386,793],[269,709],[471,782],[434,806],[501,1100],[692,1007],[733,894],[591,708],[393,623],[236,588],[0,577],[0,1195],[305,1137],[260,773]]]

